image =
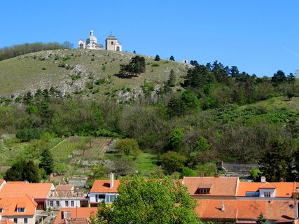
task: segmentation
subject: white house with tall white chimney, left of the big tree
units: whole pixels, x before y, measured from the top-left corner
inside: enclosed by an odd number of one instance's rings
[[[119,180],[110,174],[109,180],[95,180],[90,190],[90,207],[97,207],[100,202],[111,203],[118,197]]]

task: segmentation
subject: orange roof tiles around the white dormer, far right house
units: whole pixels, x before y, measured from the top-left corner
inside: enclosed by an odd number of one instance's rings
[[[292,197],[295,188],[293,182],[272,182],[271,188],[276,188],[275,197]],[[237,197],[245,197],[246,192],[257,192],[259,188],[267,188],[263,182],[240,182],[237,189]]]

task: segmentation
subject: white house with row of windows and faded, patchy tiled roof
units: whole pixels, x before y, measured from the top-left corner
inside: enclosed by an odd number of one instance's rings
[[[50,191],[47,198],[47,207],[51,209],[88,207],[88,193],[83,190],[74,190],[74,185],[58,185]]]

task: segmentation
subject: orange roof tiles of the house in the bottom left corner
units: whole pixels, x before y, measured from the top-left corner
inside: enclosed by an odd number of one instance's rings
[[[18,204],[25,208],[24,212],[18,212]],[[2,209],[1,216],[34,216],[36,210],[36,202],[32,201],[29,195],[22,197],[3,197],[0,200],[0,207]]]

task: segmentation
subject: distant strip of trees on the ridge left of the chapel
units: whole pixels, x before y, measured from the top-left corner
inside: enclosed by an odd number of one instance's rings
[[[32,52],[38,52],[41,50],[57,50],[57,49],[71,49],[73,45],[69,41],[64,43],[24,43],[20,45],[12,45],[11,47],[5,47],[0,49],[0,61],[17,57],[19,55],[25,55]]]

